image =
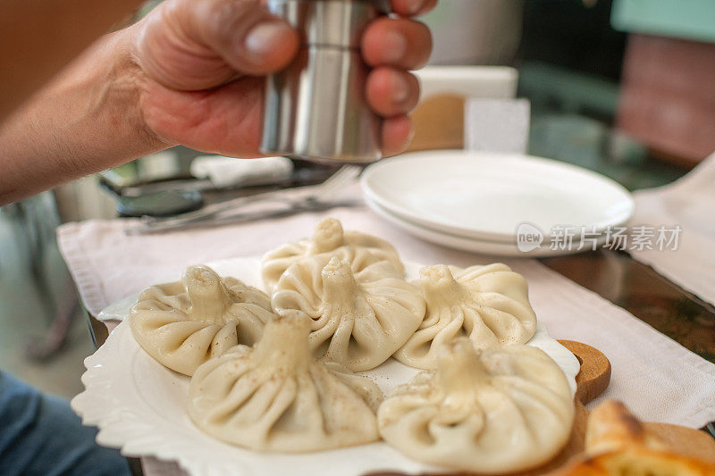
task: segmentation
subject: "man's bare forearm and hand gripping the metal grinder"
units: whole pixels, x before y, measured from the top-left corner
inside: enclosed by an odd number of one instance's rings
[[[374,21],[363,36],[373,67],[366,96],[383,117],[384,154],[408,144],[407,113],[419,97],[408,70],[432,49],[429,30],[411,17],[435,3],[392,0],[400,16]],[[260,77],[298,48],[298,34],[258,0],[167,0],[101,38],[0,124],[0,205],[176,144],[260,156]]]

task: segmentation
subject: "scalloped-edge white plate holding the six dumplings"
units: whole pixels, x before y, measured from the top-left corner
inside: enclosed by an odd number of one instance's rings
[[[257,260],[236,259],[213,265],[241,279],[240,274],[228,270],[246,270],[257,266]],[[408,276],[415,277],[420,266],[406,265]],[[116,315],[120,314],[118,310],[119,306],[115,306]],[[122,318],[128,312],[126,307]],[[575,394],[579,370],[576,357],[549,337],[541,325],[529,345],[551,355],[566,373]],[[131,336],[129,322],[121,322],[105,345],[85,360],[85,366],[88,370],[82,375],[82,383],[86,389],[72,399],[72,409],[80,414],[84,424],[99,427],[97,443],[121,448],[127,456],[156,456],[177,461],[191,474],[216,476],[357,476],[385,471],[408,474],[440,471],[401,455],[383,442],[307,455],[282,455],[257,453],[211,438],[193,425],[185,411],[189,378],[166,369],[147,355]],[[416,372],[391,359],[364,373],[383,391],[390,391]]]

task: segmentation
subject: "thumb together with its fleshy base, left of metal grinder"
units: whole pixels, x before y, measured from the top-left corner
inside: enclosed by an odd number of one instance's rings
[[[298,33],[257,0],[169,0],[137,27],[139,64],[175,89],[278,71],[299,48]]]

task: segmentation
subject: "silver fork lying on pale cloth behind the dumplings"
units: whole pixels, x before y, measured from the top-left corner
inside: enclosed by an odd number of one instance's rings
[[[222,213],[238,212],[241,208],[254,204],[275,203],[290,205],[290,208],[299,209],[309,205],[326,204],[341,192],[342,188],[355,180],[362,171],[357,165],[345,165],[332,176],[318,185],[308,187],[277,190],[254,196],[241,196],[226,202],[207,205],[195,212],[182,213],[170,218],[142,217],[144,230],[171,230],[189,223],[208,221]],[[226,217],[223,217],[225,219]]]

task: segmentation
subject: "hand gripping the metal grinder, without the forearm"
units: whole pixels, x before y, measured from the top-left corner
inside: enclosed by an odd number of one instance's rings
[[[366,97],[383,117],[383,154],[408,146],[407,113],[419,83],[409,70],[425,65],[432,38],[413,17],[437,0],[391,0],[398,18],[365,32],[362,54],[373,67]],[[139,105],[147,129],[169,145],[233,157],[258,157],[265,74],[287,66],[298,34],[258,0],[167,0],[132,27]]]

